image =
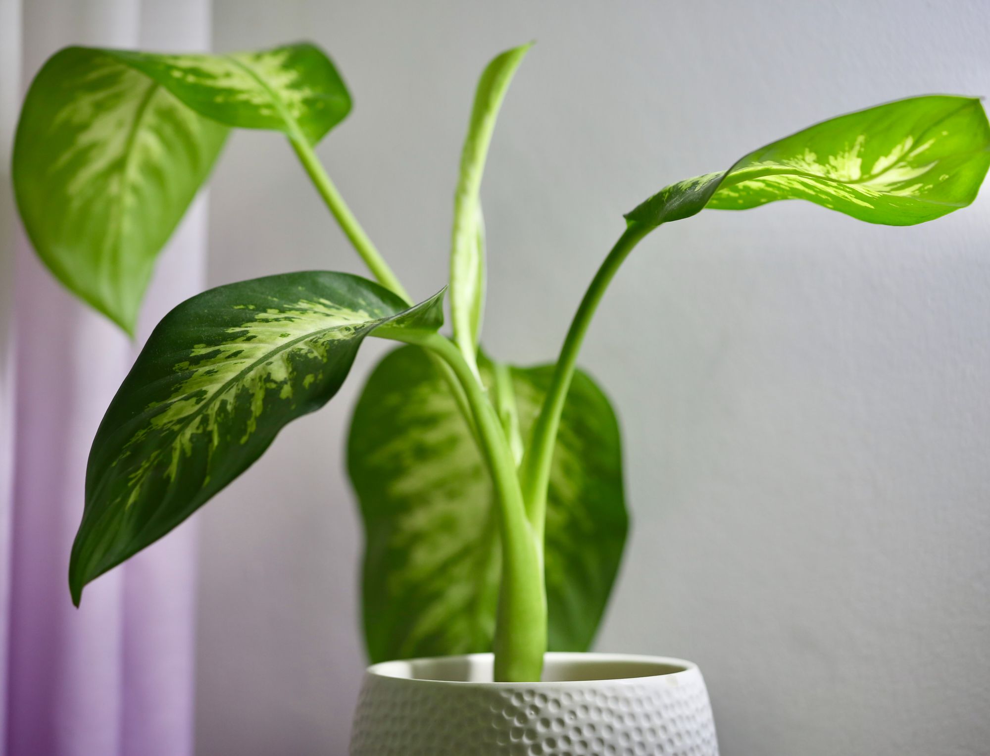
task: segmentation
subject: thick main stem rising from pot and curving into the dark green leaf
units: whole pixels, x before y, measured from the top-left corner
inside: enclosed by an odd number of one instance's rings
[[[495,619],[495,681],[538,681],[546,650],[543,542],[527,520],[516,462],[495,408],[460,350],[445,336],[402,330],[386,331],[382,335],[434,351],[463,386],[499,504],[502,583]]]

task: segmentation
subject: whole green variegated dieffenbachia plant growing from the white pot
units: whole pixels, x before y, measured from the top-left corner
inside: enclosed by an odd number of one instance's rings
[[[615,414],[577,370],[623,260],[704,209],[804,199],[910,226],[973,201],[990,164],[980,102],[926,96],[823,122],[671,184],[626,216],[553,364],[480,346],[480,186],[499,107],[529,46],[481,76],[461,153],[448,282],[414,304],[347,209],[314,146],[350,110],[318,47],[165,55],[69,47],[35,78],[13,176],[39,256],[79,298],[134,331],[154,258],[231,128],[285,135],[376,282],[281,273],[221,286],[151,333],[93,441],[69,587],[164,535],[243,473],[290,421],[338,391],[366,336],[404,345],[371,374],[347,465],[366,533],[373,660],[495,651],[498,680],[539,679],[547,647],[591,643],[627,530]],[[441,289],[440,286],[437,287]]]

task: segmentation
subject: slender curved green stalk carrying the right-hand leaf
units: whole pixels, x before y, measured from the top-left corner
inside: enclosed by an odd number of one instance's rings
[[[598,303],[616,271],[619,270],[619,266],[633,251],[640,239],[652,231],[652,228],[633,223],[619,237],[588,286],[588,290],[574,314],[574,319],[571,321],[563,345],[560,347],[560,356],[557,358],[556,366],[553,369],[553,377],[550,379],[544,405],[533,426],[530,445],[520,467],[520,479],[527,506],[527,516],[541,543],[543,543],[544,537],[546,489],[549,485],[553,447],[556,443],[560,414],[563,412],[567,391],[570,389],[570,381],[574,375],[581,342],[584,340],[585,332],[588,331],[588,325],[598,308]]]

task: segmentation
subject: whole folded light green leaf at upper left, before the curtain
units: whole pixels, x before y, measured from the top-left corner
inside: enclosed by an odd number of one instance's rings
[[[55,277],[133,333],[154,260],[227,127],[314,143],[349,109],[334,64],[312,45],[231,55],[66,47],[25,99],[18,209]]]

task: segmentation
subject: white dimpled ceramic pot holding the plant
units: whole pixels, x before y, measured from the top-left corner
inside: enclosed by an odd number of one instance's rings
[[[492,655],[375,664],[351,756],[718,756],[697,665],[548,653],[540,683],[492,683]]]

